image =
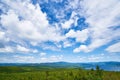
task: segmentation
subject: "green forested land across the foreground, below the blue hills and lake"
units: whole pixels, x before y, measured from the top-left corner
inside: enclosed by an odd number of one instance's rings
[[[120,80],[120,72],[34,66],[0,67],[0,80]]]

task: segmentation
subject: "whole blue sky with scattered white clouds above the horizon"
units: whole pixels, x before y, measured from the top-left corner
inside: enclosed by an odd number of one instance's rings
[[[120,61],[120,0],[0,0],[0,63]]]

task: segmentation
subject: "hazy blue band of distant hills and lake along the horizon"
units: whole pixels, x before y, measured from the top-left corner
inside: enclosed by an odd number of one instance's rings
[[[70,62],[51,62],[51,63],[0,63],[0,66],[42,66],[50,68],[84,68],[95,69],[99,66],[107,71],[120,71],[120,62],[89,62],[89,63],[70,63]]]

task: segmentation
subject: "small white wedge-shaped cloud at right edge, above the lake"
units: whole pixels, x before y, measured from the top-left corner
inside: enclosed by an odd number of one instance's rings
[[[111,52],[111,53],[116,53],[116,52],[120,52],[120,42],[115,43],[111,46],[109,46],[106,51]]]

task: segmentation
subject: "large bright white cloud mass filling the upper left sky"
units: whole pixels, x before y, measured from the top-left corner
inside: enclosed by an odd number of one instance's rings
[[[19,43],[25,40],[36,46],[46,41],[60,42],[65,39],[59,28],[48,23],[46,13],[41,11],[39,4],[33,5],[29,0],[2,2],[9,7],[3,7],[8,11],[0,15],[0,23],[11,41],[18,40],[16,43]],[[0,37],[3,37],[3,34],[0,34]]]

